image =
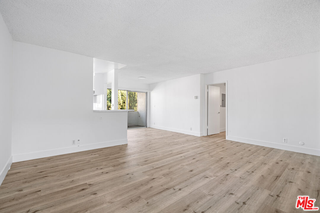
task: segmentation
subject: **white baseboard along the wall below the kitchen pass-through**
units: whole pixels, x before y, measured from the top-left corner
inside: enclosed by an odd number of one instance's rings
[[[80,146],[74,146],[74,147],[65,147],[65,148],[59,148],[59,149],[51,149],[51,150],[44,150],[39,152],[29,152],[29,153],[22,153],[13,155],[13,162],[18,161],[26,161],[36,158],[42,158],[42,157],[50,157],[55,155],[63,155],[73,152],[80,152],[80,151],[86,151],[91,149],[97,149],[97,148],[105,148],[105,147],[112,147],[122,144],[127,144],[128,140],[117,140],[117,141],[107,141],[107,142],[101,142],[101,143],[93,143],[93,144],[85,144]]]

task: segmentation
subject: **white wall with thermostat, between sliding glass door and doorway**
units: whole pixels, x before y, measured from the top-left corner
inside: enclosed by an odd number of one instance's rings
[[[150,84],[150,127],[200,136],[202,75]],[[198,99],[194,96],[197,95]],[[190,127],[192,130],[190,130]]]

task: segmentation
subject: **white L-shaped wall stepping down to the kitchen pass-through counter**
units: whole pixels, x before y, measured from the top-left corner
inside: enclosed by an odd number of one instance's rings
[[[21,42],[13,57],[14,162],[127,142],[127,112],[92,110],[93,58]]]

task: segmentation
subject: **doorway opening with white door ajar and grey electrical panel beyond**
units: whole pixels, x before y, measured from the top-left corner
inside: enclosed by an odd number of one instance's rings
[[[227,84],[207,85],[207,135],[226,131]]]

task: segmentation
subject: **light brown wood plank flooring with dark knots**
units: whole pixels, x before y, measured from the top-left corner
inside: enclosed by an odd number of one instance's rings
[[[128,144],[13,163],[0,212],[303,212],[320,207],[320,157],[164,130]]]

